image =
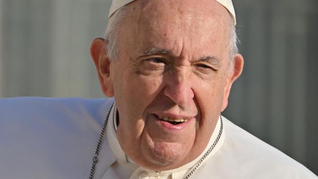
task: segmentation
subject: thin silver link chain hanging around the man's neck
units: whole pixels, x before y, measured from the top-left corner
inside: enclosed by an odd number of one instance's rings
[[[96,163],[98,162],[97,156],[98,156],[98,153],[99,153],[100,148],[101,148],[101,145],[102,145],[102,141],[103,141],[103,138],[104,138],[104,133],[105,133],[105,130],[106,130],[106,125],[107,125],[108,117],[109,117],[109,114],[110,114],[111,111],[112,111],[113,106],[114,106],[114,103],[113,103],[113,105],[111,106],[110,110],[109,110],[108,113],[107,113],[105,122],[104,122],[104,124],[103,124],[102,132],[100,133],[100,136],[99,136],[99,139],[98,139],[97,147],[96,147],[96,150],[95,150],[95,156],[93,157],[93,163],[92,163],[92,165],[91,165],[91,173],[90,173],[89,179],[93,179],[93,178],[94,178],[95,165],[96,165]],[[208,151],[204,154],[204,156],[201,158],[201,160],[199,161],[199,163],[191,170],[191,172],[190,172],[184,179],[190,179],[191,175],[199,168],[199,166],[201,165],[201,163],[203,162],[203,160],[211,153],[211,151],[214,149],[214,147],[216,146],[216,144],[217,144],[218,141],[220,140],[221,135],[222,135],[222,131],[223,131],[222,115],[220,115],[220,119],[221,119],[221,127],[220,127],[220,132],[219,132],[218,136],[216,137],[215,141],[213,142],[213,144],[212,144],[212,146],[209,148],[209,150],[208,150]]]

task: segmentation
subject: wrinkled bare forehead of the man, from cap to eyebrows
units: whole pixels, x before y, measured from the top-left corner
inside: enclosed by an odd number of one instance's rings
[[[132,37],[121,44],[135,50],[136,42],[140,48],[165,47],[177,55],[181,46],[195,44],[193,50],[200,51],[217,41],[228,45],[230,15],[215,0],[135,0],[128,6],[119,38]]]

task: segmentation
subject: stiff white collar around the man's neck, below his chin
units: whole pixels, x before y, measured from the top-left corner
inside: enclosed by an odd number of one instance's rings
[[[206,153],[206,151],[211,147],[211,145],[213,144],[213,142],[215,141],[215,139],[217,138],[220,128],[221,128],[221,120],[220,118],[218,119],[218,122],[216,124],[215,130],[211,135],[211,138],[207,144],[207,146],[205,147],[203,153],[197,157],[196,159],[194,159],[193,161],[179,167],[176,169],[172,169],[172,170],[167,170],[167,171],[161,171],[161,172],[156,172],[156,171],[152,171],[152,170],[148,170],[142,167],[138,167],[135,162],[129,158],[121,149],[119,142],[117,140],[117,135],[116,135],[116,130],[117,130],[117,108],[116,105],[114,104],[112,111],[109,115],[109,119],[108,119],[108,123],[107,123],[107,140],[109,143],[109,146],[112,150],[112,152],[114,153],[114,156],[117,157],[119,163],[122,165],[122,167],[128,167],[130,169],[135,170],[134,172],[131,172],[131,179],[135,179],[138,177],[138,175],[141,172],[146,172],[147,174],[154,176],[154,177],[158,177],[160,176],[160,179],[165,179],[168,178],[170,175],[172,175],[172,179],[183,179],[191,170],[192,168],[197,164],[197,162],[199,162],[199,160],[204,156],[204,154]],[[217,145],[214,147],[214,149],[211,151],[211,153],[205,158],[204,162],[211,156],[213,156],[223,145],[225,140],[225,130],[223,128],[223,132],[222,135],[217,143]],[[204,163],[203,162],[203,163]]]

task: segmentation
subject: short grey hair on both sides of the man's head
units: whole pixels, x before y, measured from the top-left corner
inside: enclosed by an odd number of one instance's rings
[[[106,49],[107,51],[107,57],[110,62],[113,60],[117,59],[118,57],[118,40],[117,40],[117,32],[121,24],[123,23],[125,19],[125,15],[127,14],[127,6],[122,6],[120,7],[109,19],[107,29],[104,35],[104,39],[106,40]],[[230,15],[230,14],[229,14]],[[238,53],[238,48],[237,48],[237,35],[236,35],[236,29],[235,25],[231,17],[231,21],[229,23],[229,29],[230,29],[230,54],[229,54],[229,69],[228,71],[232,70],[232,61],[234,58],[234,55]]]

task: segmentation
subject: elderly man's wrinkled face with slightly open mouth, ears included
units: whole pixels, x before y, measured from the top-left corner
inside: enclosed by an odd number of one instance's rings
[[[230,17],[214,0],[137,0],[129,7],[118,59],[108,65],[106,55],[96,62],[92,54],[104,93],[114,93],[118,141],[143,167],[180,167],[203,152],[242,70],[237,55],[238,72],[227,72]]]

